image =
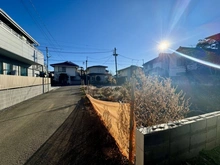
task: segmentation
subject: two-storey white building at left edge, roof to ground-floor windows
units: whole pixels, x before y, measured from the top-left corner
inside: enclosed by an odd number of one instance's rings
[[[0,74],[36,76],[43,70],[39,43],[0,9]]]

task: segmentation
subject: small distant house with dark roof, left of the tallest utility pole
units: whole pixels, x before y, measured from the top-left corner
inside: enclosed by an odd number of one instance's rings
[[[94,65],[87,68],[87,75],[89,83],[91,84],[103,84],[107,83],[107,77],[109,75],[106,70],[107,66]]]

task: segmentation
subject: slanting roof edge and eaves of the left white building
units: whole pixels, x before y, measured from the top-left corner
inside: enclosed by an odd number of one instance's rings
[[[31,44],[39,46],[40,44],[34,40],[24,29],[22,29],[4,10],[0,8],[0,20],[13,29],[16,33],[26,37]]]

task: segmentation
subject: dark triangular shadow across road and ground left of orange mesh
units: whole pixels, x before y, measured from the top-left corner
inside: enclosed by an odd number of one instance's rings
[[[66,121],[25,163],[35,164],[110,165],[127,164],[127,160],[89,101],[83,98]]]

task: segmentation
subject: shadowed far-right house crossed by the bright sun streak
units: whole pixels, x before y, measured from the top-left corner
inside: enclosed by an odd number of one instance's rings
[[[170,76],[178,76],[183,74],[202,74],[210,75],[216,73],[219,69],[215,69],[210,64],[220,64],[220,33],[199,40],[196,47],[179,47],[172,55],[172,63],[170,63]],[[185,55],[185,58],[181,55]],[[191,58],[192,57],[192,58]],[[200,63],[196,59],[203,61]]]

